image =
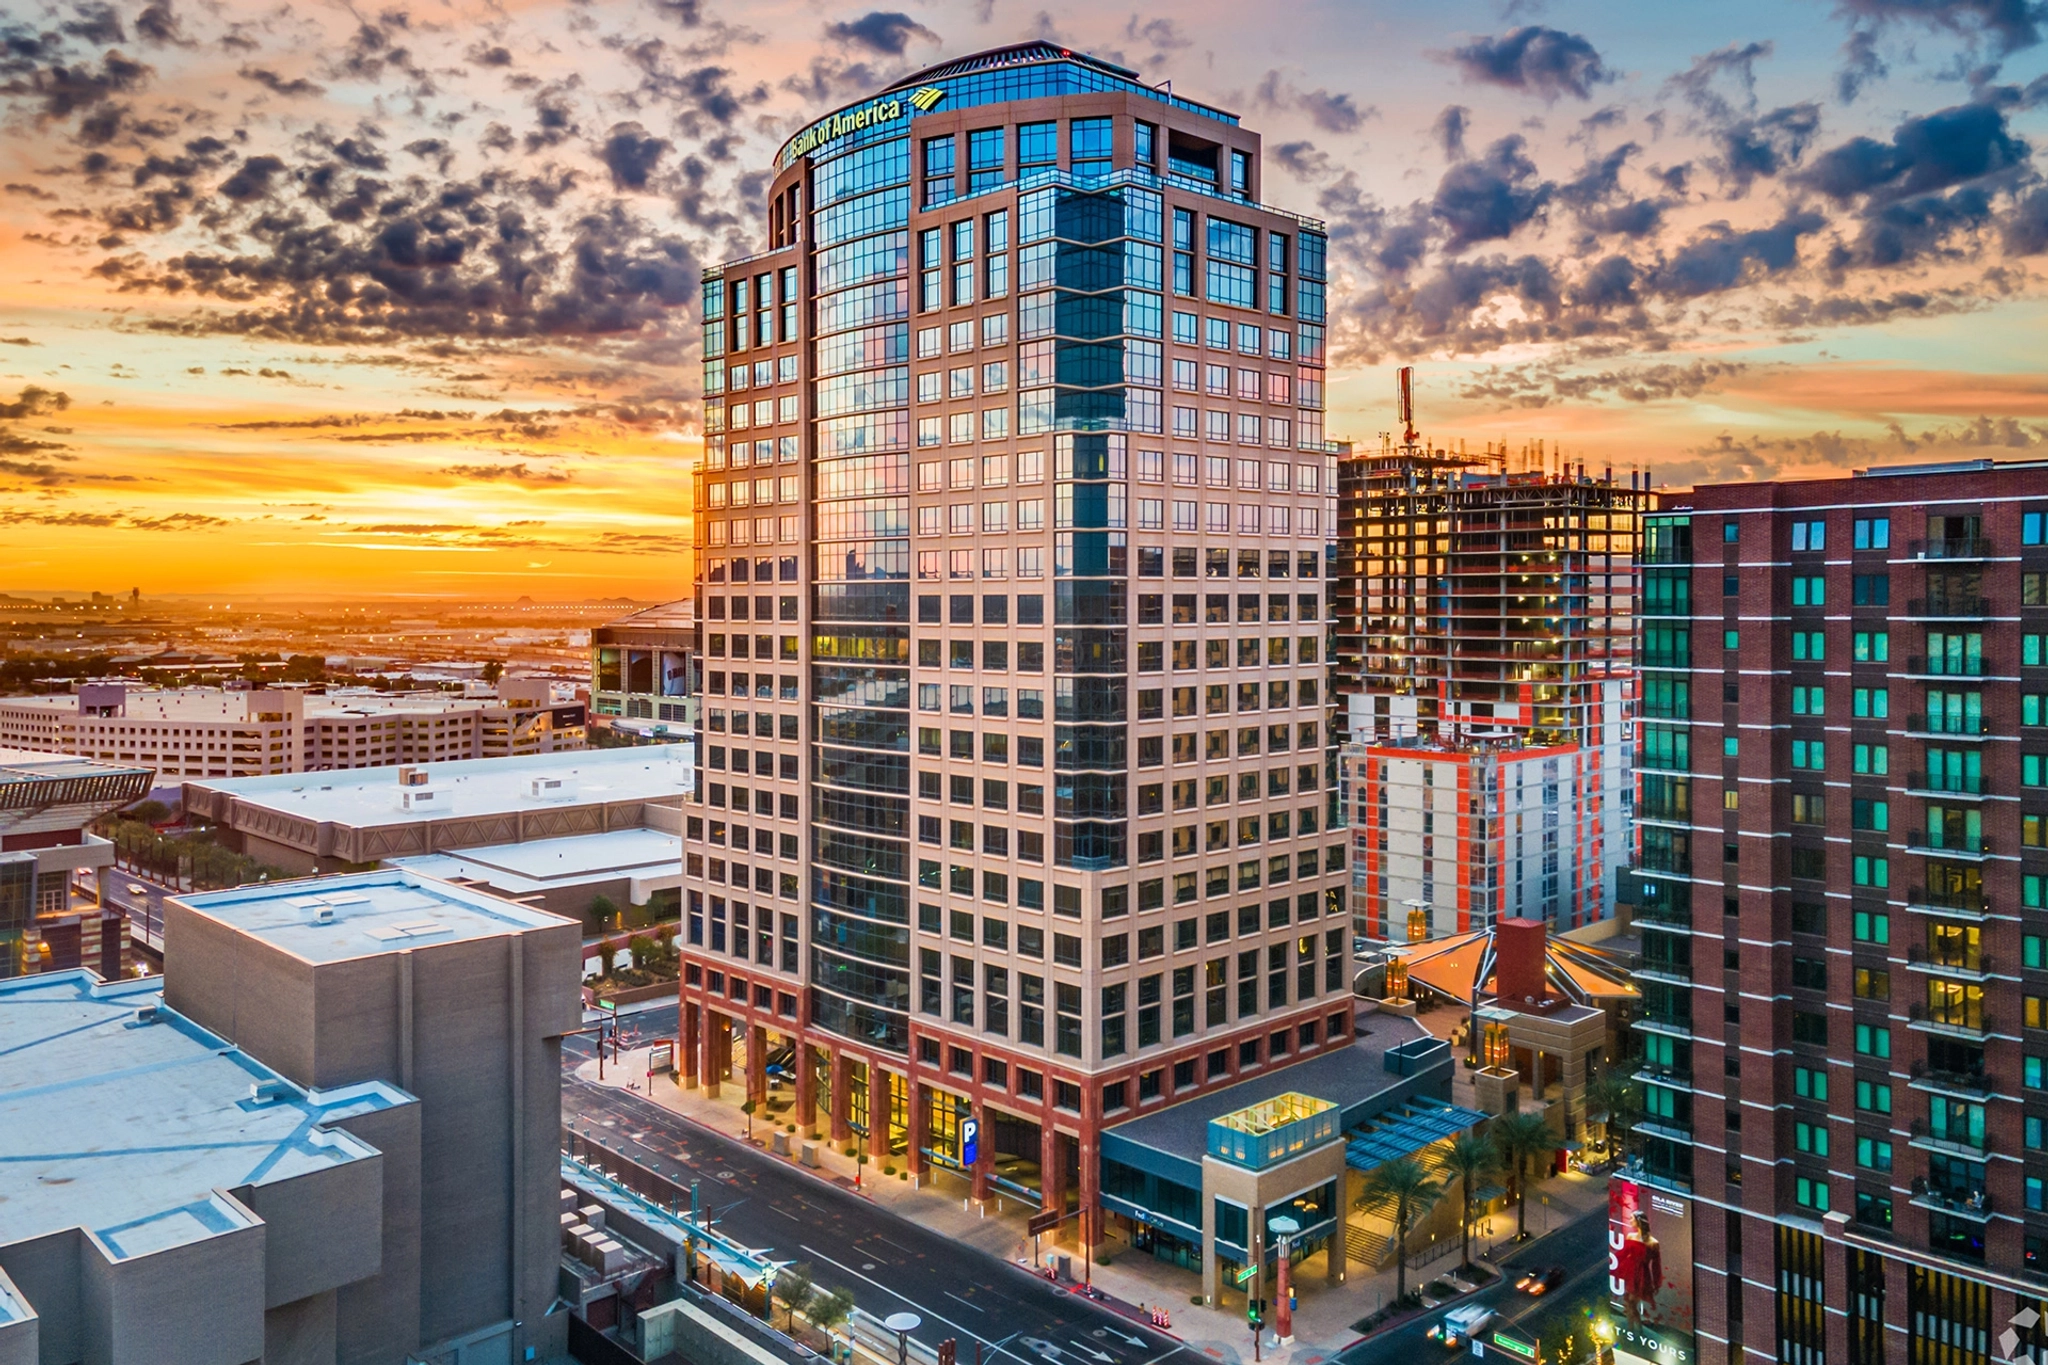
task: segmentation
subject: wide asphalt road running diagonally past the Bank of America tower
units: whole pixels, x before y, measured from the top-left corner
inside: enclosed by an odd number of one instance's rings
[[[637,1017],[641,1038],[664,1036],[659,1019],[649,1019],[657,1013]],[[674,1019],[674,1007],[668,1015]],[[586,1038],[563,1044],[565,1054],[590,1056]],[[1159,1365],[1186,1351],[1147,1322],[928,1232],[639,1095],[565,1074],[561,1115],[580,1134],[602,1134],[606,1146],[672,1181],[700,1179],[702,1199],[729,1236],[778,1261],[809,1261],[821,1287],[852,1289],[854,1302],[870,1314],[918,1314],[924,1326],[913,1336],[932,1347],[954,1338],[963,1365],[977,1342],[991,1365],[997,1359],[1006,1365]]]

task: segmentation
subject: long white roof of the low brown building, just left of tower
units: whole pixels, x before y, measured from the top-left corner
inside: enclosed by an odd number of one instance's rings
[[[637,745],[631,749],[575,749],[502,759],[461,759],[420,763],[426,786],[446,794],[442,810],[399,810],[399,769],[350,767],[315,774],[268,774],[262,778],[188,780],[186,786],[225,792],[266,810],[283,810],[336,825],[401,825],[438,821],[451,814],[504,814],[549,806],[600,804],[621,800],[674,800],[694,784],[694,745]],[[532,796],[532,780],[561,780],[547,796]],[[440,802],[434,802],[440,804]]]

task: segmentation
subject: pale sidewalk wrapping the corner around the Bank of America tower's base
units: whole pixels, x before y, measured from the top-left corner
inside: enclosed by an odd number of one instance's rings
[[[596,1062],[586,1062],[575,1074],[584,1081],[596,1083]],[[606,1066],[604,1085],[631,1089],[711,1132],[745,1140],[748,1119],[739,1111],[737,1097],[705,1099],[700,1093],[680,1089],[674,1076],[664,1074],[653,1076],[653,1093],[647,1095],[647,1076],[643,1072],[623,1070],[618,1064]],[[725,1091],[729,1095],[737,1095],[737,1087],[727,1085]],[[770,1152],[772,1134],[774,1126],[766,1119],[758,1119],[754,1124],[754,1146],[762,1152]],[[782,1160],[801,1166],[801,1162],[797,1162],[797,1152],[801,1152],[803,1136],[786,1134],[786,1138],[791,1154]],[[813,1173],[817,1179],[846,1191],[854,1189],[856,1164],[852,1156],[842,1156],[827,1142],[819,1142],[817,1160],[819,1169]],[[901,1158],[895,1158],[889,1164],[893,1164],[897,1173],[903,1171]],[[1032,1269],[1030,1238],[1024,1234],[1024,1220],[1036,1212],[1034,1205],[1006,1195],[995,1195],[977,1207],[969,1197],[965,1177],[930,1166],[922,1185],[901,1179],[901,1175],[885,1177],[881,1175],[879,1164],[860,1169],[860,1195],[887,1207],[895,1216],[918,1222],[934,1232],[942,1232],[956,1242],[975,1246],[977,1250],[1001,1261],[1010,1261],[1018,1267],[1020,1275],[1036,1273]],[[1540,1203],[1540,1199],[1548,1199],[1548,1205]],[[1540,1246],[1542,1242],[1538,1236],[1544,1230],[1561,1228],[1595,1207],[1606,1207],[1606,1201],[1608,1183],[1604,1177],[1573,1173],[1550,1177],[1540,1185],[1534,1185],[1530,1189],[1528,1209],[1532,1240],[1526,1246]],[[1513,1205],[1509,1205],[1507,1209],[1493,1214],[1491,1222],[1493,1232],[1497,1234],[1495,1238],[1483,1238],[1475,1230],[1473,1259],[1487,1261],[1495,1246],[1503,1254],[1518,1250],[1511,1240],[1516,1228],[1513,1220]],[[1042,1240],[1047,1244],[1040,1259],[1049,1261],[1055,1254],[1069,1257],[1073,1273],[1081,1275],[1083,1259],[1079,1246],[1073,1242],[1053,1246],[1051,1238]],[[1108,1302],[1104,1302],[1102,1308],[1122,1312],[1135,1320],[1145,1320],[1151,1306],[1161,1306],[1171,1314],[1171,1334],[1186,1342],[1190,1351],[1200,1351],[1202,1355],[1225,1361],[1227,1365],[1251,1365],[1251,1334],[1245,1328],[1241,1293],[1225,1295],[1225,1304],[1219,1308],[1202,1308],[1190,1302],[1190,1297],[1200,1295],[1202,1289],[1200,1275],[1194,1271],[1184,1271],[1171,1263],[1155,1261],[1151,1254],[1133,1250],[1128,1244],[1114,1240],[1100,1246],[1098,1252],[1106,1259],[1106,1263],[1094,1263],[1092,1283],[1108,1295]],[[1325,1279],[1325,1254],[1327,1252],[1317,1254],[1294,1269],[1298,1300],[1294,1310],[1294,1342],[1288,1347],[1272,1345],[1272,1328],[1268,1326],[1266,1345],[1260,1349],[1262,1361],[1274,1361],[1278,1365],[1319,1365],[1358,1340],[1358,1332],[1352,1328],[1354,1322],[1393,1300],[1395,1269],[1391,1265],[1384,1271],[1374,1273],[1354,1263],[1346,1283],[1329,1285]],[[1430,1257],[1427,1263],[1423,1263],[1425,1257]],[[1427,1285],[1438,1275],[1454,1269],[1456,1263],[1456,1240],[1440,1242],[1434,1250],[1425,1246],[1415,1248],[1409,1257],[1409,1289]],[[1270,1320],[1272,1314],[1268,1314],[1268,1322]]]

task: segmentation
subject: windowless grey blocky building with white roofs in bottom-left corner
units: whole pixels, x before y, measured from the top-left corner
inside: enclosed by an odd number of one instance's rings
[[[379,872],[170,898],[162,978],[0,982],[0,1359],[561,1359],[575,956]]]

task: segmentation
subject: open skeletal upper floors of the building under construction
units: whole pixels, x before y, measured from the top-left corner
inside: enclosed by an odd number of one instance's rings
[[[1595,477],[1540,442],[1466,454],[1384,440],[1339,460],[1337,497],[1348,739],[1602,743],[1612,684],[1626,694],[1632,677],[1649,503],[1634,477]]]

